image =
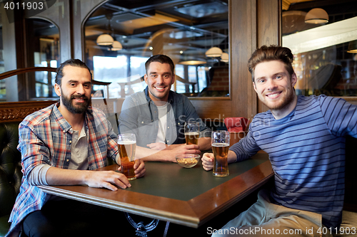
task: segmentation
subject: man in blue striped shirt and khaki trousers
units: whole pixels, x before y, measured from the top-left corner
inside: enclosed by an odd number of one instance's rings
[[[213,236],[338,233],[345,136],[357,137],[356,106],[325,95],[297,96],[292,62],[290,49],[280,46],[262,46],[248,61],[258,98],[270,110],[253,118],[248,135],[230,148],[228,162],[248,159],[262,149],[269,154],[275,185],[260,191],[256,204]],[[203,169],[212,169],[213,154],[205,154],[202,162]]]

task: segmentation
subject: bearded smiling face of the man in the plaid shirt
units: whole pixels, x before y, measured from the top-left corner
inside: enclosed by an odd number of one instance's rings
[[[55,84],[61,105],[74,114],[83,114],[91,103],[91,74],[87,68],[66,65],[61,85]]]

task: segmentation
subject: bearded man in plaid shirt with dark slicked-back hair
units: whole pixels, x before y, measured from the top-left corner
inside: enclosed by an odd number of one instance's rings
[[[110,122],[101,110],[90,106],[91,71],[81,60],[70,59],[56,73],[60,102],[34,112],[19,125],[24,176],[7,236],[21,232],[26,236],[112,236],[124,227],[118,211],[52,196],[37,186],[86,185],[113,191],[131,186],[119,172],[92,171],[104,167],[106,159],[118,163],[119,152]],[[136,177],[144,176],[140,159],[134,169]],[[107,228],[107,223],[120,227]]]

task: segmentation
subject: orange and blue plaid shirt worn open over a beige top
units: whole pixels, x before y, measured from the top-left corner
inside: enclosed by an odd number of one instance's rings
[[[56,106],[55,106],[56,105]],[[73,130],[69,122],[54,104],[27,116],[19,125],[19,146],[22,162],[22,184],[16,198],[9,222],[7,236],[19,236],[21,221],[33,211],[40,210],[49,200],[50,194],[32,186],[28,177],[38,164],[68,169],[71,161],[71,140]],[[86,111],[85,129],[88,139],[89,169],[106,165],[106,157],[115,160],[118,153],[116,134],[111,123],[101,110],[89,107]]]

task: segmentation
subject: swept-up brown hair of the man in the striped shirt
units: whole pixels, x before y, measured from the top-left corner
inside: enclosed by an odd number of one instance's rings
[[[285,68],[290,75],[293,75],[293,53],[290,48],[282,46],[261,46],[256,49],[248,60],[248,69],[251,73],[251,80],[254,82],[254,70],[258,63],[268,62],[271,60],[280,60],[285,64]]]

